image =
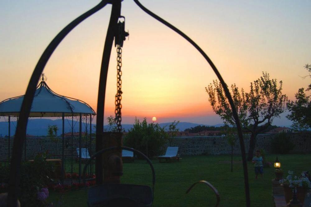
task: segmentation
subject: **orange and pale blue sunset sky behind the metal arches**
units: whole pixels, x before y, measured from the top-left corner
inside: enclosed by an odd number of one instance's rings
[[[49,42],[70,21],[99,1],[0,2],[0,100],[22,95]],[[228,85],[249,90],[262,71],[283,81],[294,98],[310,79],[311,1],[141,0],[186,33],[209,55]],[[44,69],[53,91],[86,101],[96,110],[104,39],[111,5],[78,25],[61,42]],[[122,2],[129,40],[122,54],[123,123],[135,116],[157,122],[174,120],[218,124],[205,87],[216,79],[192,45],[144,13],[131,0]],[[114,114],[116,49],[106,89],[105,116]],[[275,124],[290,125],[288,120]]]

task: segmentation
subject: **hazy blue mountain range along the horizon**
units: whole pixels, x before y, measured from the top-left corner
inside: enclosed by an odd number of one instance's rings
[[[171,123],[159,123],[160,127],[167,126],[167,129]],[[27,125],[27,134],[35,135],[35,136],[46,136],[48,134],[47,129],[48,125],[57,125],[58,127],[58,134],[62,134],[62,120],[51,120],[51,119],[30,119],[28,121]],[[71,132],[71,120],[65,119],[65,133]],[[73,122],[73,131],[78,132],[79,131],[79,122],[75,121]],[[184,131],[187,128],[196,127],[198,125],[204,125],[204,124],[195,124],[190,122],[179,122],[176,128],[179,129],[179,131]],[[216,127],[220,127],[223,124],[217,124],[213,125]],[[92,124],[92,132],[95,132],[95,124]],[[204,125],[204,126],[211,126],[211,125]],[[82,123],[82,131],[85,131],[85,124]],[[125,131],[128,131],[133,127],[133,124],[123,124],[122,127],[125,129]],[[105,125],[104,128],[108,128],[108,125]],[[16,121],[11,121],[11,136],[15,134],[16,129]],[[90,130],[90,125],[87,126],[87,130]],[[0,122],[0,136],[4,137],[8,135],[8,122]]]

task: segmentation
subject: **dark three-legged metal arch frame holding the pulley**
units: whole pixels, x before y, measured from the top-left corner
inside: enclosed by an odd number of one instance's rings
[[[97,120],[96,120],[96,151],[100,151],[100,147],[102,146],[102,136],[103,136],[103,123],[104,123],[104,100],[105,100],[105,88],[107,83],[107,73],[108,73],[108,66],[109,66],[109,58],[111,54],[112,43],[114,40],[114,35],[117,31],[117,21],[118,17],[121,13],[121,2],[122,0],[102,0],[97,6],[93,7],[89,11],[85,12],[81,16],[77,17],[74,21],[68,24],[62,31],[58,33],[58,35],[52,40],[52,42],[48,45],[45,49],[44,53],[41,55],[34,72],[30,78],[30,82],[28,84],[26,94],[21,106],[21,112],[19,115],[19,120],[16,127],[16,139],[14,139],[13,145],[13,156],[12,162],[10,166],[10,181],[9,181],[9,194],[8,194],[8,205],[16,206],[17,204],[17,194],[18,194],[18,186],[20,182],[20,167],[21,167],[21,149],[23,147],[25,137],[26,137],[26,126],[27,120],[30,114],[30,107],[34,98],[36,84],[39,81],[40,75],[43,72],[43,69],[49,60],[50,56],[52,55],[53,51],[56,49],[58,44],[63,40],[63,38],[80,22],[85,20],[87,17],[91,16],[95,12],[99,11],[103,8],[107,3],[112,4],[112,11],[109,20],[109,26],[107,30],[106,40],[104,44],[104,52],[102,56],[102,63],[101,63],[101,70],[100,70],[100,82],[99,82],[99,90],[98,90],[98,101],[97,101]],[[213,64],[211,59],[204,53],[204,51],[187,35],[183,32],[178,30],[173,25],[169,24],[167,21],[163,20],[156,14],[152,13],[146,7],[144,7],[138,0],[134,0],[134,2],[146,13],[150,16],[154,17],[161,23],[165,24],[179,35],[183,36],[188,42],[190,42],[207,60],[210,64],[213,71],[216,73],[217,78],[220,80],[225,95],[229,100],[233,116],[237,125],[238,134],[239,134],[239,141],[241,146],[241,153],[243,159],[243,170],[244,170],[244,183],[245,183],[245,195],[246,195],[246,206],[250,206],[250,199],[249,199],[249,186],[248,186],[248,172],[247,172],[247,163],[245,157],[245,148],[244,148],[244,141],[243,135],[241,130],[241,125],[239,122],[239,117],[237,111],[234,106],[234,102],[230,95],[229,89],[225,84],[223,78],[221,77],[220,73],[218,72],[216,66]],[[81,151],[81,150],[80,150]],[[102,174],[101,168],[101,157],[100,159],[96,159],[96,175]],[[96,176],[96,183],[101,184],[103,182],[102,177]]]

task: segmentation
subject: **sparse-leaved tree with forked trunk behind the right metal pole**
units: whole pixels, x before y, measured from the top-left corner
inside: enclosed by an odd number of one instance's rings
[[[279,83],[279,86],[278,86]],[[231,85],[231,93],[239,120],[243,128],[251,133],[248,158],[253,158],[253,151],[256,146],[256,136],[271,125],[275,117],[285,110],[287,96],[282,94],[282,81],[270,79],[269,73],[262,72],[262,76],[250,83],[250,91],[239,91],[235,85]],[[235,126],[235,120],[229,102],[221,84],[214,80],[205,88],[209,96],[209,102],[226,125]]]

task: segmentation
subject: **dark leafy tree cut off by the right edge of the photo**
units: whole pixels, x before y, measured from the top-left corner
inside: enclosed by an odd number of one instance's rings
[[[311,73],[311,65],[306,64],[304,68]],[[311,77],[311,74],[309,76]],[[306,91],[310,90],[311,84]],[[290,114],[286,118],[293,121],[292,127],[295,129],[309,129],[311,128],[311,98],[305,94],[304,88],[298,89],[298,92],[295,93],[295,98],[295,102],[287,102],[287,109],[290,111]]]

